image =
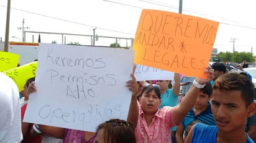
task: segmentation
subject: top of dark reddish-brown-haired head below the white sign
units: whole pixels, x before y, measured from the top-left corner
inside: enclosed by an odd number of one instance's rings
[[[132,126],[122,119],[110,119],[99,124],[96,129],[95,143],[135,143],[135,134]]]

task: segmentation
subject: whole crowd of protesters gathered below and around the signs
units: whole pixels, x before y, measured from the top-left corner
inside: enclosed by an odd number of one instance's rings
[[[23,122],[35,77],[25,83],[21,104],[16,84],[0,73],[0,142],[255,142],[254,85],[248,73],[232,70],[214,63],[207,79],[175,73],[173,82],[130,74],[127,119],[109,119],[95,132]]]

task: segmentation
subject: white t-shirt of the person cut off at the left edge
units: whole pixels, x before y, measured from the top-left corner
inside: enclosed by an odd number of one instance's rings
[[[0,72],[0,142],[21,142],[21,105],[14,81]]]

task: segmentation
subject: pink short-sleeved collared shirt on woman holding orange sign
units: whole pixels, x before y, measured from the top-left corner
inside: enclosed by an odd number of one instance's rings
[[[176,126],[173,120],[173,107],[164,106],[158,109],[155,116],[153,116],[152,123],[147,126],[144,118],[144,111],[140,104],[139,106],[139,119],[135,128],[135,137],[137,142],[140,143],[156,143],[156,142],[171,142],[171,128]]]

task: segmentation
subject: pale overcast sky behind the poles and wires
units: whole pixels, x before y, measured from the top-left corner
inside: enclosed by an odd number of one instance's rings
[[[218,52],[252,52],[256,55],[255,0],[183,0],[182,14],[193,15],[219,22],[213,48]],[[180,0],[11,0],[9,41],[22,41],[21,27],[34,32],[75,33],[104,37],[134,38],[143,9],[179,12]],[[0,37],[6,32],[7,0],[0,1]],[[24,19],[24,26],[22,25]],[[94,30],[95,29],[95,30]],[[25,40],[38,39],[38,33],[27,33]],[[60,35],[40,34],[42,43],[57,41]],[[66,43],[78,42],[90,45],[91,39],[66,36]],[[99,38],[95,45],[106,45]],[[112,43],[116,40],[112,39]],[[130,45],[128,40],[120,40]]]

